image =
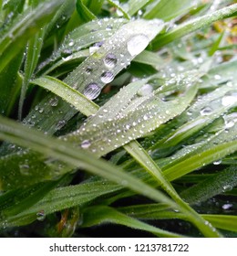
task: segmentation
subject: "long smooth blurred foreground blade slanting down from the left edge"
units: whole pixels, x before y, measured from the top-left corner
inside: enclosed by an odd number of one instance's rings
[[[93,155],[80,149],[75,151],[75,147],[70,144],[49,138],[43,133],[29,129],[20,123],[15,123],[4,117],[0,117],[0,120],[0,137],[2,139],[12,141],[15,144],[21,144],[22,146],[29,146],[40,154],[43,153],[44,155],[57,157],[68,165],[79,166],[95,175],[104,176],[124,187],[129,187],[146,197],[163,201],[169,204],[170,207],[179,208],[169,197],[164,196],[158,190],[149,187],[139,179],[130,176],[118,167],[108,164],[106,161],[96,159]],[[1,189],[3,182],[4,180],[2,179]]]

